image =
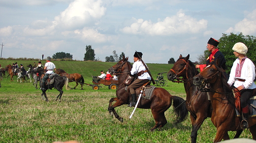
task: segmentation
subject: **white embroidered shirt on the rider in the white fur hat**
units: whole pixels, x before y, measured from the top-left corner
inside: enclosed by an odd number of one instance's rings
[[[238,81],[238,79],[245,79],[245,81]],[[247,57],[242,59],[241,65],[239,58],[237,58],[233,66],[231,68],[229,79],[227,83],[237,88],[239,86],[243,86],[244,89],[255,89],[256,85],[254,83],[255,79],[255,65],[254,63]]]

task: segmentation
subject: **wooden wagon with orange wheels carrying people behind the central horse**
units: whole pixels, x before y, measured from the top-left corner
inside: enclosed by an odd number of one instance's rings
[[[93,84],[93,90],[98,90],[99,88],[101,88],[100,84],[108,86],[108,89],[116,90],[118,87],[118,80],[100,79],[98,81],[96,77],[93,77]]]

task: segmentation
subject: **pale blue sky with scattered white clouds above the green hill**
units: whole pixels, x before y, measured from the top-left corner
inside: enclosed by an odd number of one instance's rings
[[[195,62],[230,32],[256,36],[255,0],[0,0],[2,58],[83,60],[91,45],[103,62],[114,50],[131,62],[135,51],[145,63]]]

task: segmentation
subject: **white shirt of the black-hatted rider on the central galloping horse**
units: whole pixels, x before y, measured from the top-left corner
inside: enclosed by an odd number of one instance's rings
[[[133,63],[130,74],[134,75],[135,73],[138,73],[139,71],[146,71],[145,66],[143,65],[143,63],[140,60]],[[149,80],[151,80],[151,77],[150,77],[148,72],[144,72],[143,74],[138,76],[138,79],[149,79]]]

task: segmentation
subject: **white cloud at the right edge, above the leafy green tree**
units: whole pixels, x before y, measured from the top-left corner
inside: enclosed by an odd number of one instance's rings
[[[242,21],[235,24],[234,27],[229,27],[225,32],[242,32],[244,35],[256,34],[256,9],[249,13]]]

